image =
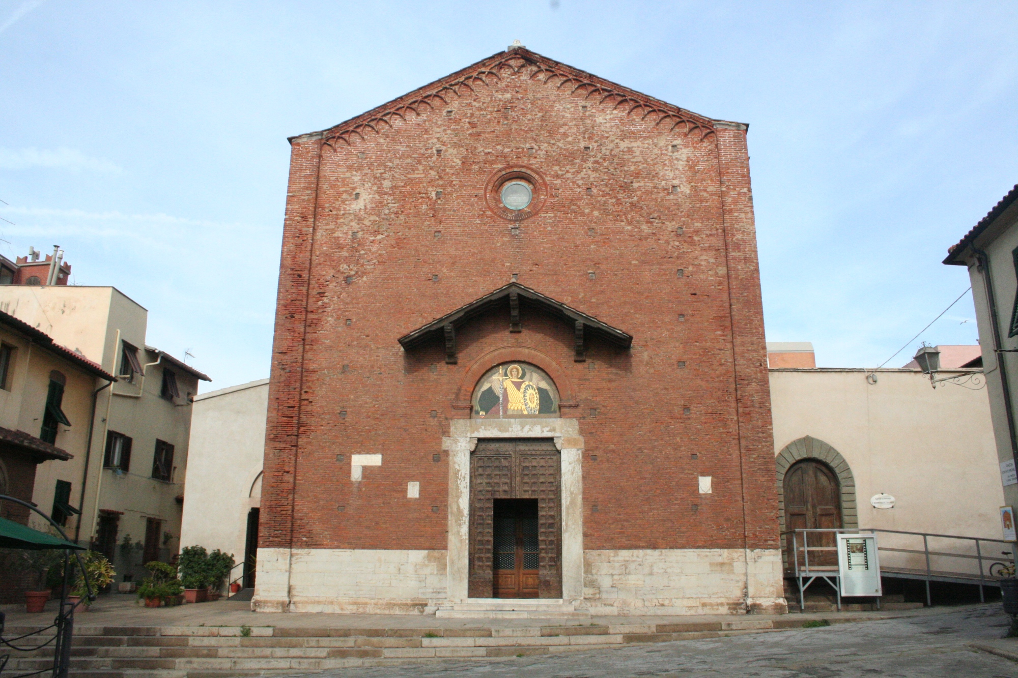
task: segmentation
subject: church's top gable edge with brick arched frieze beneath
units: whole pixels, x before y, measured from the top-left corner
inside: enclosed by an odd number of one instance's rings
[[[513,47],[505,52],[496,52],[487,59],[482,59],[337,125],[319,132],[290,136],[288,140],[292,144],[296,138],[320,137],[323,144],[333,148],[339,145],[350,146],[354,137],[364,138],[365,134],[381,133],[382,127],[392,128],[393,122],[397,119],[405,120],[411,114],[414,117],[419,116],[419,111],[426,107],[435,110],[436,104],[446,106],[456,99],[469,96],[475,88],[490,87],[492,82],[501,80],[501,73],[507,72],[507,69],[512,72],[526,72],[530,79],[570,94],[581,93],[585,100],[602,106],[608,105],[612,110],[621,111],[626,115],[635,113],[639,119],[653,126],[667,130],[681,127],[686,135],[695,135],[700,140],[714,135],[715,122],[725,122],[727,126],[734,124],[748,127],[741,123],[715,120],[687,111],[579,68],[549,59],[525,47]]]

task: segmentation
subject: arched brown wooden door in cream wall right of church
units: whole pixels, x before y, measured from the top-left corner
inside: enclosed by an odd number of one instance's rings
[[[803,459],[785,473],[785,529],[818,529],[841,527],[841,487],[838,475],[817,459]],[[808,535],[809,564],[837,565],[838,554],[834,532],[812,532]],[[804,564],[802,535],[796,536],[799,566]],[[823,551],[814,551],[815,548]],[[794,563],[792,535],[788,535],[788,564]]]

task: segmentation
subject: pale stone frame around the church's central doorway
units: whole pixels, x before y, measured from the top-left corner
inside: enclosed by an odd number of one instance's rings
[[[448,599],[466,603],[469,577],[470,452],[478,438],[551,438],[561,455],[562,600],[583,598],[583,439],[578,419],[453,419],[442,449],[449,454]]]

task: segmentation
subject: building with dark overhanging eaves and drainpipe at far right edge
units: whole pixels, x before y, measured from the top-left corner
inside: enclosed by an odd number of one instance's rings
[[[1003,504],[1018,507],[1018,185],[948,249],[965,266],[982,346]]]

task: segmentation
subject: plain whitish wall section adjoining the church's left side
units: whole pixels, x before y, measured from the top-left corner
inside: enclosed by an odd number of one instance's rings
[[[233,554],[230,578],[243,575],[245,588],[254,585],[268,406],[269,380],[260,379],[195,396],[191,416],[180,543]]]

